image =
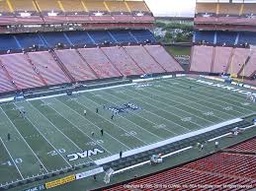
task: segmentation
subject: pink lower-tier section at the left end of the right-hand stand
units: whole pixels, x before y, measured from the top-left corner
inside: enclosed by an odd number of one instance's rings
[[[212,46],[193,46],[190,71],[210,73],[212,61]]]

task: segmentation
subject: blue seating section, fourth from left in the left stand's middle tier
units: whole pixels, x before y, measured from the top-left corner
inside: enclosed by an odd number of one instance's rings
[[[85,45],[85,44],[93,44],[94,42],[91,40],[87,32],[64,32],[70,39],[73,44],[76,45]]]

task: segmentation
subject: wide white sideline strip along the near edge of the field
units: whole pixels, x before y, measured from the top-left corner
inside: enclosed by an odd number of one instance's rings
[[[204,129],[200,129],[200,130],[190,132],[190,133],[187,133],[187,134],[184,134],[184,135],[180,135],[180,136],[177,136],[177,137],[173,137],[173,138],[170,138],[170,139],[158,142],[158,143],[154,143],[154,144],[150,144],[150,145],[147,145],[147,146],[144,146],[144,147],[141,147],[141,148],[130,150],[128,152],[125,152],[123,154],[123,157],[125,158],[125,157],[129,157],[129,156],[133,156],[133,155],[138,154],[138,153],[142,153],[142,152],[146,152],[146,151],[149,151],[149,150],[152,150],[152,149],[156,149],[156,148],[159,148],[159,147],[162,147],[162,146],[165,146],[165,145],[168,145],[168,144],[180,141],[180,140],[184,140],[186,138],[197,136],[197,135],[209,132],[209,131],[213,131],[214,129],[218,129],[218,128],[221,128],[223,126],[227,126],[227,125],[237,123],[237,122],[240,122],[240,121],[242,121],[241,118],[235,118],[235,119],[228,120],[228,121],[225,121],[225,122],[222,122],[222,123],[218,123],[216,125],[213,125],[213,126],[210,126],[210,127],[204,128]],[[101,164],[104,164],[104,163],[107,163],[107,162],[110,162],[110,161],[113,161],[113,160],[116,160],[116,159],[120,159],[119,154],[108,157],[108,158],[105,158],[105,159],[97,159],[97,160],[95,160],[95,163],[97,165],[101,165]]]

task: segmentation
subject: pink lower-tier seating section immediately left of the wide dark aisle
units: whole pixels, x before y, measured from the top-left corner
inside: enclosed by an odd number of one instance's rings
[[[47,85],[69,83],[68,78],[59,68],[52,55],[47,51],[28,53]]]

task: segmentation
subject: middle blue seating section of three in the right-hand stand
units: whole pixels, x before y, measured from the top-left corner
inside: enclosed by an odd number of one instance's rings
[[[226,45],[234,45],[237,32],[217,32],[216,43],[225,43]]]

